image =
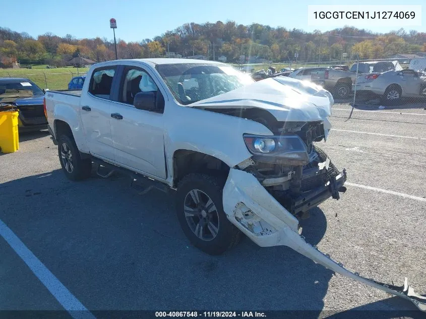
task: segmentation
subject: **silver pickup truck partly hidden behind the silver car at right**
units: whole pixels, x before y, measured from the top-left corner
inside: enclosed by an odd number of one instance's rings
[[[389,70],[400,71],[402,67],[398,61],[359,62],[354,63],[349,71],[334,69],[313,71],[311,81],[329,90],[334,97],[345,99],[351,95],[352,85],[355,84],[357,75],[372,72],[383,73]]]

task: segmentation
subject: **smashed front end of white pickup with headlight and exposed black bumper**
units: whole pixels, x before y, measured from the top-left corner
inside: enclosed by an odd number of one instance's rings
[[[313,142],[325,138],[324,124],[286,122],[271,129],[272,137],[245,135],[253,156],[237,168],[253,174],[287,211],[302,217],[328,198],[344,192],[346,171],[333,165]]]

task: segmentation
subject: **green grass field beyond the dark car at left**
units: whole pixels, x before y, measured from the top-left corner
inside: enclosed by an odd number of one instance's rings
[[[0,69],[0,77],[27,78],[42,89],[66,90],[72,77],[86,73],[88,68],[46,69],[46,66],[33,66],[32,69]]]

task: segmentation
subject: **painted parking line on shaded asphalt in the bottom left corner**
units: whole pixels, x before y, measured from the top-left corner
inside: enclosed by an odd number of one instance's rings
[[[2,220],[0,220],[0,235],[73,318],[95,319],[95,316],[34,256]]]

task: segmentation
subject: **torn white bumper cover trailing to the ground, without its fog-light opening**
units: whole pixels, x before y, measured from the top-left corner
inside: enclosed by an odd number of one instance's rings
[[[255,235],[235,218],[236,209],[244,203],[256,216],[274,229],[264,235]],[[344,268],[341,263],[333,261],[329,256],[313,247],[302,238],[297,231],[297,219],[283,208],[259,183],[252,174],[230,169],[228,179],[223,188],[223,210],[229,221],[245,233],[259,246],[288,246],[316,263],[339,273],[345,277],[364,283],[370,287],[386,291],[413,302],[420,310],[426,311],[426,303],[417,302],[416,295],[410,287],[407,294],[382,286],[373,280],[361,277]],[[423,300],[423,299],[420,299]]]

